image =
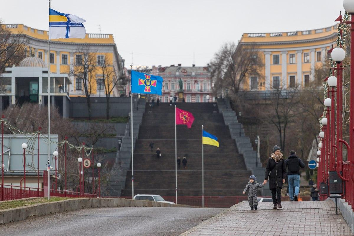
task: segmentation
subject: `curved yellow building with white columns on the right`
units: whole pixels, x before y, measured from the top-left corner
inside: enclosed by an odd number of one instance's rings
[[[250,76],[244,90],[307,86],[336,39],[337,24],[303,31],[244,33],[239,45],[256,45],[264,62],[262,77]]]

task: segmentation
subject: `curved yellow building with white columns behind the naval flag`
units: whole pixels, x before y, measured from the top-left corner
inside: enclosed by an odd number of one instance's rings
[[[116,74],[123,72],[124,59],[118,53],[112,34],[86,34],[84,39],[51,40],[51,51],[48,56],[48,31],[34,29],[23,24],[3,24],[0,27],[11,30],[14,36],[21,35],[28,39],[27,56],[34,53],[34,56],[42,59],[46,65],[50,60],[51,93],[61,92],[67,94],[68,97],[85,96],[82,79],[69,75],[70,66],[75,66],[76,62],[82,60],[78,51],[80,48],[88,48],[96,57],[94,78],[90,79],[91,96],[105,96],[102,83],[103,73],[100,67],[105,59],[107,59],[109,68],[114,69]],[[39,93],[45,94],[47,91],[40,90]],[[120,96],[121,93],[125,93],[125,89],[117,86],[111,95]],[[14,99],[12,103],[15,103]]]

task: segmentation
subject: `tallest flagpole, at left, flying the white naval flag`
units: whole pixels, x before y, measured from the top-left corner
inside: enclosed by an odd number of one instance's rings
[[[50,11],[50,1],[48,9],[48,200],[50,198],[50,27],[49,27],[49,11]]]

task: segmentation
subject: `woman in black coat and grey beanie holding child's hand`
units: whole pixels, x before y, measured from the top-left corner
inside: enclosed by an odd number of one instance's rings
[[[273,209],[281,207],[281,189],[286,179],[286,167],[283,154],[280,152],[279,146],[274,146],[273,153],[270,155],[267,166],[265,167],[264,184],[268,182],[269,189],[272,190]],[[278,205],[278,206],[277,206]]]

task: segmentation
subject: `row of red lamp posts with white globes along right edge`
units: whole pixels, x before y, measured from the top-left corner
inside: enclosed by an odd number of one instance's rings
[[[344,0],[343,6],[345,10],[354,17],[354,0]],[[354,31],[354,22],[339,17],[339,25],[347,23],[352,24],[351,31]],[[332,48],[329,53],[333,63],[331,62],[330,76],[325,79],[325,88],[327,98],[324,100],[325,112],[321,119],[321,131],[319,133],[320,142],[318,144],[317,162],[318,175],[317,184],[321,188],[327,186],[329,180],[329,172],[336,171],[338,177],[349,186],[354,183],[354,66],[350,67],[350,120],[349,120],[349,144],[343,140],[343,68],[342,61],[346,57],[344,47],[346,41],[346,27],[338,28],[338,44],[336,48]],[[343,39],[343,40],[342,40]],[[350,39],[354,45],[354,35]],[[350,58],[354,60],[354,50],[350,50]],[[343,144],[347,147],[347,161],[343,162]],[[349,176],[350,175],[350,176]],[[328,188],[328,186],[327,186]],[[349,189],[346,190],[346,192]],[[352,189],[353,190],[353,189]],[[327,198],[326,192],[320,196],[321,200]],[[353,195],[353,192],[349,192]],[[346,196],[346,199],[349,196]],[[353,205],[353,202],[351,202]]]

